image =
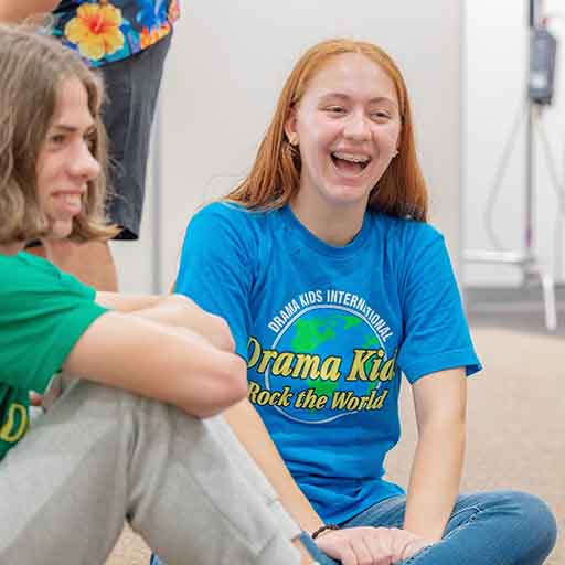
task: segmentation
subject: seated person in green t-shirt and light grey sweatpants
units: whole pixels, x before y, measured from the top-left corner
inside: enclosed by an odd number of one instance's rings
[[[171,564],[312,563],[215,417],[246,393],[225,322],[183,297],[97,292],[24,252],[116,232],[99,79],[0,25],[0,562],[104,563],[127,519]],[[30,424],[30,393],[60,367],[83,379]]]

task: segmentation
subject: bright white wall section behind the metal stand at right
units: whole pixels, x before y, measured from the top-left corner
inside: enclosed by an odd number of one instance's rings
[[[559,0],[546,0],[546,11],[556,13],[565,8]],[[489,194],[501,167],[504,147],[520,113],[524,116],[527,70],[526,0],[472,0],[466,4],[465,53],[465,151],[463,151],[463,217],[467,248],[493,248],[486,230]],[[552,20],[550,29],[565,36],[565,21]],[[563,53],[557,57],[554,104],[544,110],[540,125],[546,132],[563,183],[564,166],[564,81]],[[510,250],[524,249],[525,214],[525,118],[514,136],[515,145],[499,185],[499,198],[492,209],[495,236]],[[542,138],[534,137],[535,206],[534,245],[542,268],[563,280],[563,232],[556,223],[555,183],[548,172]],[[556,227],[558,228],[556,231]],[[518,285],[521,270],[509,265],[466,265],[463,280],[469,286]]]

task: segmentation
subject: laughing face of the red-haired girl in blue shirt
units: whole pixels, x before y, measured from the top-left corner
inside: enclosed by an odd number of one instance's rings
[[[396,153],[401,127],[396,89],[385,71],[359,53],[331,57],[285,125],[300,150],[300,193],[307,191],[313,205],[364,210]]]

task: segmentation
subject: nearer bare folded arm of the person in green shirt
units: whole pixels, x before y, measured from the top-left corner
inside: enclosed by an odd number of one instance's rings
[[[84,379],[207,417],[246,394],[245,362],[199,333],[107,312],[86,330],[64,369]]]

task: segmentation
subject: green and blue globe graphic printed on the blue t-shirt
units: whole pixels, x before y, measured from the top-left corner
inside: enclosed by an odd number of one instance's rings
[[[382,349],[384,353],[384,345],[375,329],[355,310],[340,306],[317,306],[302,310],[280,330],[270,349],[279,353],[302,353],[310,363],[310,371],[301,371],[298,377],[274,375],[273,365],[265,371],[265,385],[268,391],[281,391],[285,386],[291,386],[294,399],[290,405],[275,406],[275,409],[290,419],[321,424],[352,415],[355,412],[338,402],[340,398],[343,401],[350,391],[358,396],[370,395],[373,390],[382,386],[379,380],[347,380],[355,350]],[[385,361],[386,353],[382,359],[382,362]],[[366,375],[371,373],[374,362],[373,354],[364,363]],[[294,366],[296,367],[296,360]],[[313,376],[316,372],[323,373],[322,366],[326,367],[326,375],[329,373],[330,377],[322,379],[320,374]],[[300,393],[308,390],[312,393],[301,395],[303,401],[305,395],[309,394],[308,406],[297,406],[296,401]],[[322,396],[328,398],[324,406],[315,407],[315,399]]]

